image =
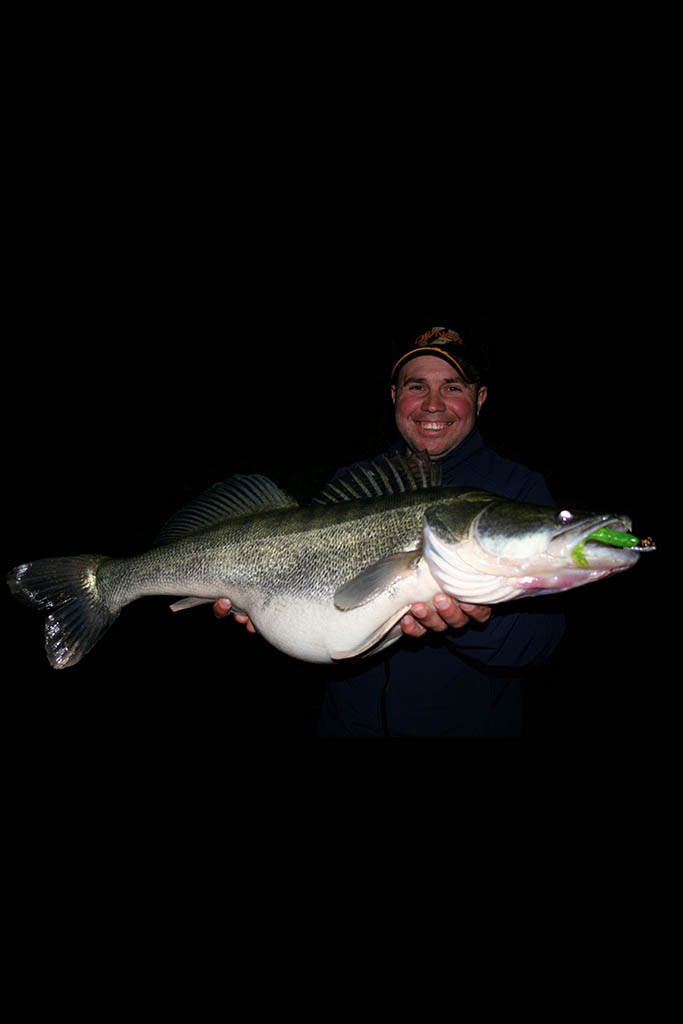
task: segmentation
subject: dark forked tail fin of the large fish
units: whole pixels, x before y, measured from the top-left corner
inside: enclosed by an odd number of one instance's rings
[[[47,611],[45,650],[53,669],[80,662],[119,614],[119,608],[102,600],[97,586],[103,561],[103,555],[43,558],[17,565],[7,575],[14,597]]]

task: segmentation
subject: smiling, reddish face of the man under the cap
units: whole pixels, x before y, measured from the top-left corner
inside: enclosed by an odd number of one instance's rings
[[[486,388],[477,392],[437,355],[419,355],[398,371],[391,397],[396,426],[409,447],[426,449],[432,459],[441,459],[471,433]]]

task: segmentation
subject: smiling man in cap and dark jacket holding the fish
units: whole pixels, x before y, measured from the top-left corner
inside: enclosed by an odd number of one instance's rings
[[[481,353],[446,328],[409,345],[391,371],[404,442],[391,452],[426,451],[440,463],[443,484],[552,505],[540,474],[483,443],[476,422],[487,397],[484,368]],[[401,621],[405,638],[382,655],[330,671],[318,735],[520,734],[521,676],[559,643],[561,613],[535,610],[532,600],[490,608],[436,594],[433,604],[414,604]],[[220,617],[230,603],[214,608]],[[249,618],[236,617],[254,632]]]

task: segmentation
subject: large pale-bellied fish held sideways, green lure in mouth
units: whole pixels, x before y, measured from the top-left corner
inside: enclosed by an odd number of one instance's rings
[[[229,597],[287,654],[331,663],[381,649],[415,601],[439,591],[476,604],[558,593],[630,568],[650,541],[626,516],[440,487],[433,464],[378,460],[300,507],[263,476],[233,476],[129,558],[18,565],[15,596],[47,611],[55,669],[76,665],[121,609],[152,594],[189,607]],[[186,596],[185,596],[186,595]]]

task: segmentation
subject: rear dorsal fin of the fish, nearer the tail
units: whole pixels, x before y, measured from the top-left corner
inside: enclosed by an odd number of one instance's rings
[[[226,519],[286,508],[298,508],[298,503],[267,476],[230,476],[171,516],[155,543],[171,544]]]

